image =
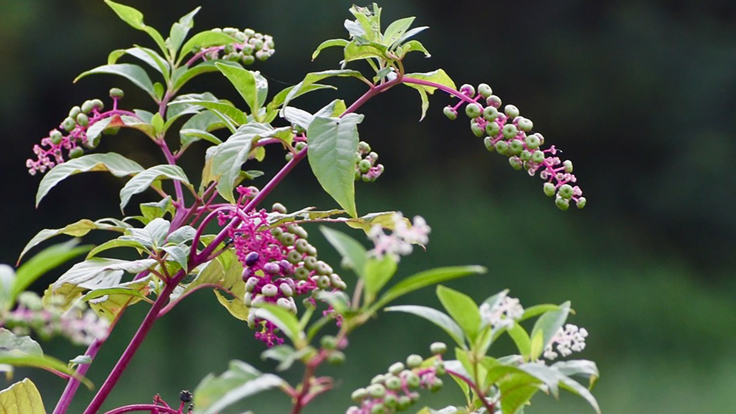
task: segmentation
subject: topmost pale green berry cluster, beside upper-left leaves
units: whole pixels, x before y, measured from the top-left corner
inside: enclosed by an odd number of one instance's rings
[[[252,65],[256,59],[267,60],[276,51],[271,36],[257,33],[253,29],[240,30],[234,27],[225,27],[224,29],[212,29],[212,31],[230,35],[236,41],[225,46],[198,47],[189,64],[193,63],[198,57],[202,57],[203,60],[224,59],[241,62],[244,65]]]

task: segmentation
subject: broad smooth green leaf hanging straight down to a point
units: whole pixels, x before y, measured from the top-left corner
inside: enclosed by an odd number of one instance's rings
[[[363,115],[349,113],[342,118],[315,117],[309,124],[307,152],[309,165],[322,188],[352,217],[355,209],[355,152],[358,151],[358,124]]]

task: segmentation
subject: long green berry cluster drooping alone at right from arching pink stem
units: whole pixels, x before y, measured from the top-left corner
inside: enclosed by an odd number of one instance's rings
[[[459,107],[465,104],[470,129],[479,138],[485,136],[488,151],[506,155],[514,169],[523,168],[531,176],[539,171],[539,177],[546,181],[545,194],[555,197],[560,210],[567,210],[570,201],[575,201],[578,208],[585,207],[583,191],[574,185],[577,179],[573,174],[573,162],[560,160],[557,153],[562,151],[555,146],[541,149],[545,138],[539,132],[531,133],[534,123],[520,116],[517,107],[506,105],[503,112],[500,111],[501,99],[493,95],[493,90],[485,83],[478,85],[477,94],[473,85],[467,84],[461,86],[460,93],[473,101],[461,100],[448,105],[444,110],[447,118],[456,119]]]

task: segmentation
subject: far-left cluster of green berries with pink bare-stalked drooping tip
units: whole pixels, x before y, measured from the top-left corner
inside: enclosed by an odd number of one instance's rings
[[[85,101],[82,105],[72,107],[69,115],[59,124],[58,129],[52,129],[49,136],[41,139],[40,145],[33,146],[33,152],[37,159],[26,160],[26,168],[31,175],[36,172],[44,173],[47,169],[54,168],[54,165],[63,163],[63,150],[68,152],[68,157],[78,158],[84,154],[82,146],[85,148],[94,148],[96,140],[89,139],[87,136],[88,129],[101,121],[116,113],[118,100],[123,97],[123,91],[118,88],[110,89],[110,98],[113,99],[113,110],[102,112],[105,104],[100,99],[91,99]],[[112,129],[106,132],[112,132]],[[63,131],[63,132],[62,132]],[[66,132],[66,135],[64,135]],[[96,134],[99,136],[99,133]]]

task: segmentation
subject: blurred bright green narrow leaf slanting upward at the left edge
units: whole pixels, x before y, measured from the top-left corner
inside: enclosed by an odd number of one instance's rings
[[[56,244],[38,252],[31,260],[18,268],[15,273],[13,288],[10,290],[10,303],[15,301],[18,293],[26,290],[38,277],[52,268],[66,262],[72,257],[89,251],[91,246],[77,246],[77,240],[68,240],[66,243]]]

